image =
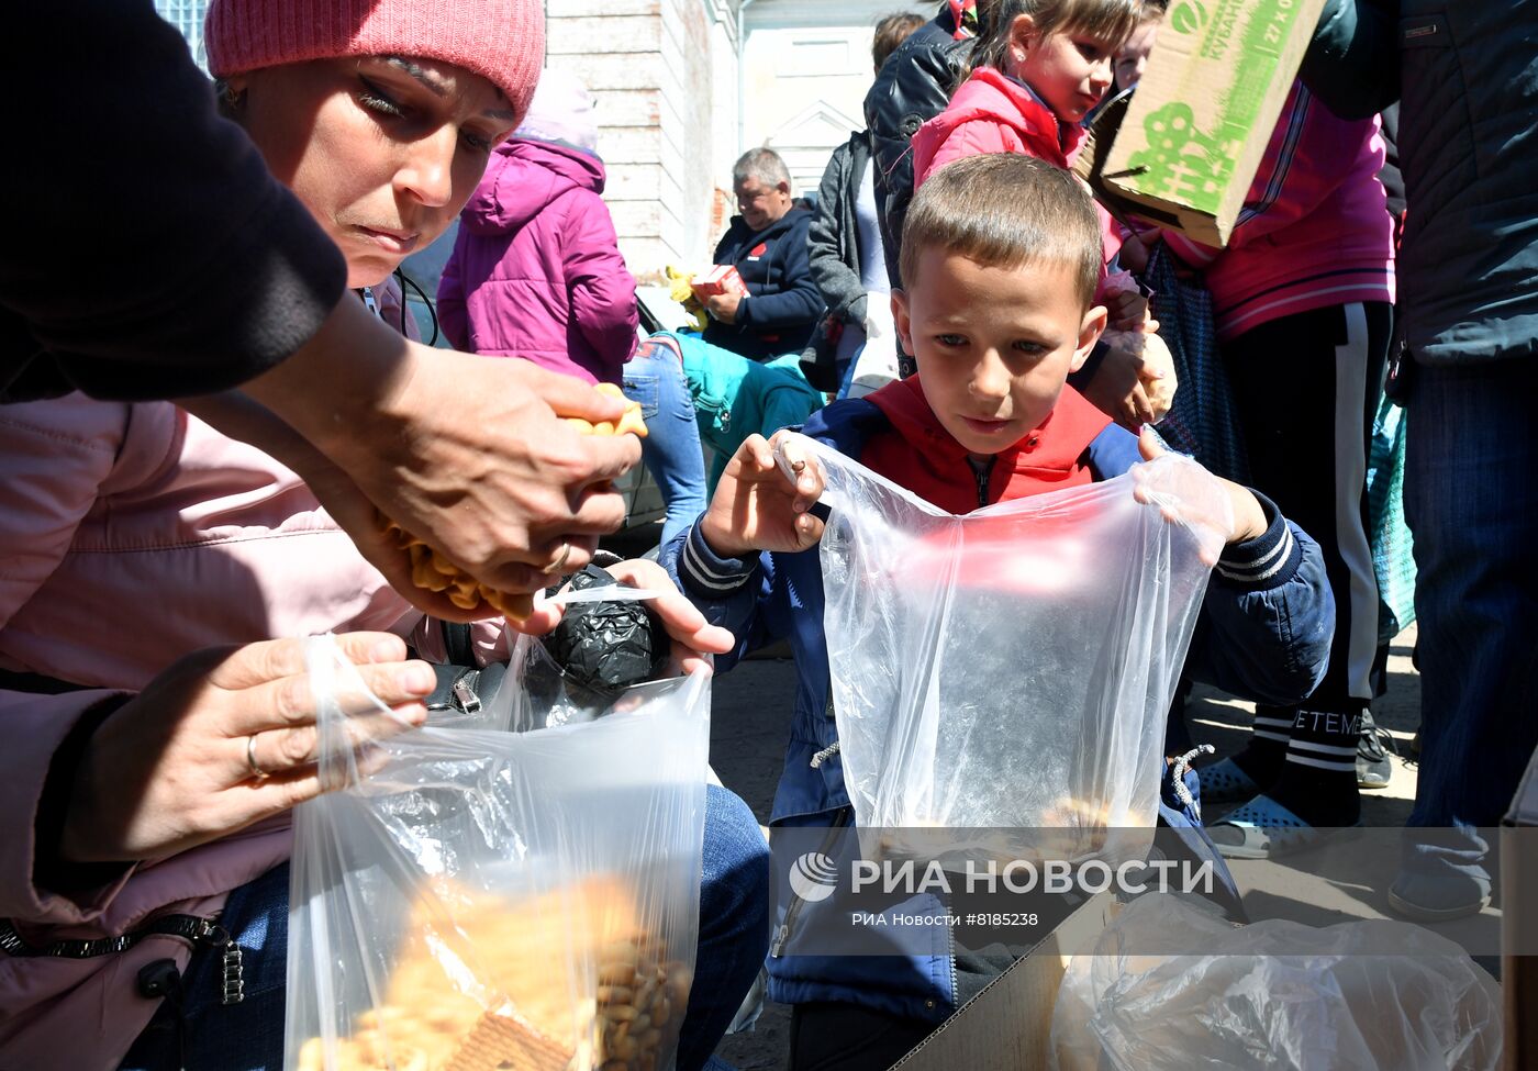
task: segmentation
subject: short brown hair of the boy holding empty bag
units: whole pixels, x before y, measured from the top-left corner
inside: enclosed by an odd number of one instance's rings
[[[935,248],[989,268],[1066,265],[1086,309],[1104,263],[1089,191],[1063,168],[1010,152],[947,163],[918,188],[903,226],[904,286]]]

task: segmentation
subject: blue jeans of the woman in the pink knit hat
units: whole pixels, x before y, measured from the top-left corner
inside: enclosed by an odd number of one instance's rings
[[[195,953],[181,983],[181,1022],[169,1002],[161,1003],[122,1071],[281,1071],[288,888],[285,863],[231,892],[225,905],[221,922],[245,951],[246,999],[220,1005],[220,957]],[[747,805],[709,785],[700,943],[678,1039],[678,1071],[706,1066],[767,951],[769,845]]]

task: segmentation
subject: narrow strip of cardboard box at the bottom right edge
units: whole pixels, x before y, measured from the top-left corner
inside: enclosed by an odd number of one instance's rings
[[[1501,829],[1501,989],[1506,997],[1506,1068],[1538,1066],[1538,754],[1527,763]]]

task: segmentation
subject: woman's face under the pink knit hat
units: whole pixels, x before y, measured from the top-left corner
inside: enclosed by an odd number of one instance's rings
[[[268,168],[372,286],[443,234],[514,128],[508,98],[452,63],[312,60],[228,80]]]

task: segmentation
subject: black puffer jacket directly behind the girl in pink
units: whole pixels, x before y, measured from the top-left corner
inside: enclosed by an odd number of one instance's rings
[[[866,94],[866,126],[875,163],[875,208],[881,220],[886,274],[898,277],[903,220],[914,199],[914,131],[946,109],[972,55],[972,40],[955,40],[955,22],[946,6],[903,42],[875,77]]]

